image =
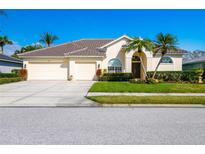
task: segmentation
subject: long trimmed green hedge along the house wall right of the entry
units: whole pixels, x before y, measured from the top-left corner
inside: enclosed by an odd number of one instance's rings
[[[154,72],[147,72],[148,78],[151,78]],[[191,82],[198,81],[198,76],[194,71],[161,71],[157,72],[156,79],[169,82]]]

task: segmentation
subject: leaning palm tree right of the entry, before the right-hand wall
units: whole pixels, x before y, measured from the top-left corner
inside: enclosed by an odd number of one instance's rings
[[[171,34],[163,34],[163,33],[159,33],[156,37],[156,41],[154,41],[155,44],[155,49],[154,49],[154,56],[160,52],[161,54],[161,58],[155,68],[154,74],[152,76],[152,78],[154,79],[156,72],[159,68],[159,65],[162,61],[162,58],[164,57],[165,54],[167,54],[167,52],[173,52],[177,50],[177,38]]]

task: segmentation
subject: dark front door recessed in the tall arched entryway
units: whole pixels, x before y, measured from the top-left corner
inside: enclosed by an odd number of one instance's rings
[[[141,61],[139,56],[132,56],[132,74],[134,78],[141,78]]]

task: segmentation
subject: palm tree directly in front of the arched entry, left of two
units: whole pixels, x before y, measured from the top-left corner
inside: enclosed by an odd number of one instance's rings
[[[144,49],[148,51],[152,51],[153,47],[154,47],[154,44],[149,39],[142,39],[142,38],[137,38],[137,37],[133,38],[133,40],[131,40],[127,45],[124,46],[124,49],[127,52],[131,50],[138,52],[145,77],[147,77],[147,72],[145,70],[145,66],[142,60],[142,52]]]

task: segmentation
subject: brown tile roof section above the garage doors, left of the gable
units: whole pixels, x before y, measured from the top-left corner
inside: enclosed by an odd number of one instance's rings
[[[19,54],[19,56],[104,56],[99,47],[113,39],[81,39],[53,47]]]

